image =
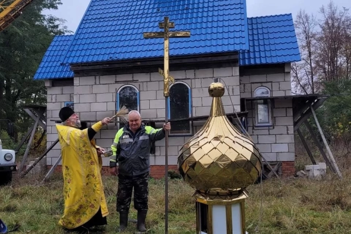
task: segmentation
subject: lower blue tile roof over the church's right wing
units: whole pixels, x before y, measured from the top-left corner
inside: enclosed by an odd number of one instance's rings
[[[240,53],[241,66],[301,60],[291,14],[248,18],[248,28],[250,48]]]

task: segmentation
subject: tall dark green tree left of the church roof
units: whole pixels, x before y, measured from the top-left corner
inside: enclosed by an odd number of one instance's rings
[[[46,103],[43,81],[33,80],[40,61],[55,35],[69,33],[64,20],[42,14],[60,4],[61,0],[35,0],[0,32],[0,118],[10,119],[20,132],[32,123],[21,106]]]

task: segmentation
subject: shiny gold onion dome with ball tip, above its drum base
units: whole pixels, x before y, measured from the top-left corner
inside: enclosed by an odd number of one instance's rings
[[[253,184],[261,173],[262,163],[254,142],[242,135],[225,115],[221,99],[224,92],[223,84],[210,85],[209,94],[213,97],[210,116],[178,155],[183,179],[197,193],[222,199]]]

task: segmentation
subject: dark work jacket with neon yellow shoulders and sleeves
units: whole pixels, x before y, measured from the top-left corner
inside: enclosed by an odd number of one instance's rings
[[[151,143],[165,137],[165,130],[150,126],[140,126],[134,135],[129,124],[118,130],[111,145],[110,167],[116,167],[118,173],[125,176],[138,176],[150,171]]]

